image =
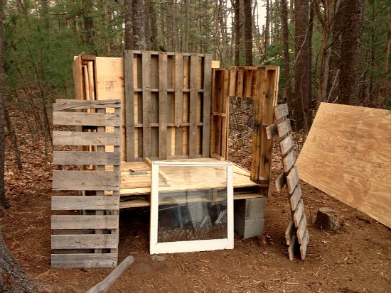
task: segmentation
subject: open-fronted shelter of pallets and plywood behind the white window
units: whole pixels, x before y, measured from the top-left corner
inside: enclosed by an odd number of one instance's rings
[[[234,197],[267,196],[272,140],[265,127],[273,123],[279,68],[213,67],[211,56],[202,54],[75,57],[76,99],[124,105],[120,208],[149,206],[151,160],[227,160],[230,96],[255,100],[252,170],[234,167]]]

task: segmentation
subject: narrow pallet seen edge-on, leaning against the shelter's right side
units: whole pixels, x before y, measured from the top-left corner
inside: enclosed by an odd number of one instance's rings
[[[309,243],[309,231],[307,229],[306,214],[304,214],[304,202],[301,199],[301,187],[299,174],[296,167],[293,141],[289,131],[291,125],[288,116],[288,105],[282,104],[274,109],[275,123],[266,128],[267,137],[278,136],[279,149],[284,166],[283,172],[277,177],[277,191],[281,192],[284,186],[288,190],[289,207],[291,209],[291,221],[286,228],[286,245],[289,245],[289,259],[294,259],[294,250],[299,245],[301,259],[306,258],[306,248]]]

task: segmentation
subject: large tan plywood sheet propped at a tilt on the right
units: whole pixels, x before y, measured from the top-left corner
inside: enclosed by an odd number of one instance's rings
[[[322,103],[300,178],[391,227],[391,111]]]

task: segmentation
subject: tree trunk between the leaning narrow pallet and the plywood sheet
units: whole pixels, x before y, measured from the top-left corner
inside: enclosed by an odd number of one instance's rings
[[[311,57],[309,30],[309,1],[295,1],[295,84],[293,117],[296,130],[311,126]]]

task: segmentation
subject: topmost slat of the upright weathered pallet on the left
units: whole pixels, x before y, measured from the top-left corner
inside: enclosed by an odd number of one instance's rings
[[[121,100],[119,99],[108,99],[99,101],[57,99],[55,103],[53,103],[53,111],[120,107]]]

